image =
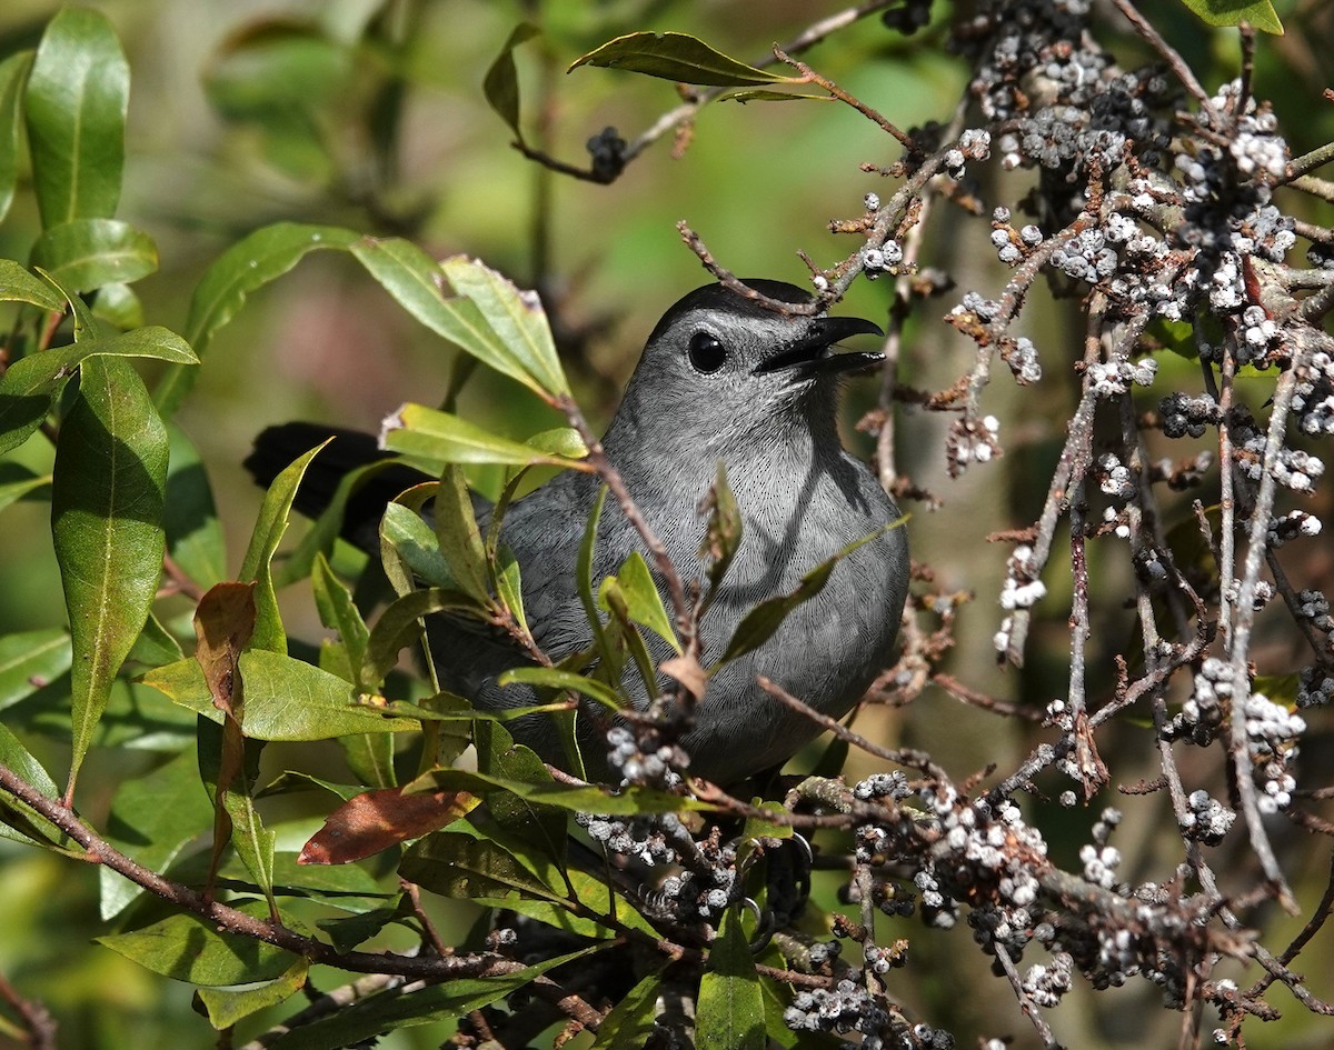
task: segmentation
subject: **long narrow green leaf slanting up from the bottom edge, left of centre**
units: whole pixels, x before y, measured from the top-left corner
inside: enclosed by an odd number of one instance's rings
[[[331,1017],[299,1025],[269,1043],[269,1050],[343,1050],[395,1029],[452,1021],[503,999],[556,966],[598,950],[600,946],[595,945],[500,977],[456,977],[407,994],[380,993]]]

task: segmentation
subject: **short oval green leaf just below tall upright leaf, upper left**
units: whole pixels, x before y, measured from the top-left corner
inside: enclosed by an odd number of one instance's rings
[[[115,219],[75,219],[48,227],[32,245],[32,265],[73,292],[129,284],[157,269],[157,245]]]

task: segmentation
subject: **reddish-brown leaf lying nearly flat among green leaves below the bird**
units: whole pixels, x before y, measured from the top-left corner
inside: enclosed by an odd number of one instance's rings
[[[452,823],[480,801],[467,791],[403,794],[378,788],[350,798],[307,842],[297,863],[351,863]]]

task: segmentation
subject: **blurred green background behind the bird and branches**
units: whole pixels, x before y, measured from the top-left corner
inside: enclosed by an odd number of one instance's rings
[[[600,421],[615,405],[654,321],[706,278],[680,243],[678,220],[687,220],[728,269],[802,282],[806,266],[796,252],[808,252],[819,265],[843,257],[855,241],[830,235],[827,221],[859,215],[867,192],[891,192],[890,183],[858,165],[891,163],[899,153],[896,144],[836,104],[711,105],[699,115],[680,157],[671,155],[667,136],[614,185],[603,187],[544,172],[524,160],[483,99],[486,71],[511,29],[524,20],[540,25],[544,35],[516,53],[524,128],[534,144],[584,165],[590,136],[614,125],[632,139],[678,104],[679,96],[663,81],[607,69],[582,68],[566,76],[566,67],[579,55],[623,32],[675,29],[756,61],[774,41],[790,40],[815,19],[842,9],[838,3],[123,0],[92,5],[116,25],[133,76],[119,215],[151,232],[161,257],[161,272],[136,288],[147,318],[177,330],[203,270],[253,228],[289,219],[408,236],[438,256],[464,252],[522,286],[540,286],[579,398]],[[1206,87],[1213,89],[1235,73],[1235,33],[1206,32],[1174,3],[1143,7],[1182,48]],[[1319,103],[1321,89],[1334,80],[1334,52],[1319,43],[1334,39],[1334,5],[1294,0],[1277,7],[1289,33],[1261,41],[1255,91],[1274,100],[1293,152],[1299,153],[1334,137],[1334,107]],[[915,37],[888,32],[872,17],[806,59],[899,127],[947,121],[966,84],[967,65],[943,49],[947,5],[936,8],[936,24]],[[0,55],[33,45],[56,9],[40,0],[7,0],[0,7]],[[1110,33],[1109,41],[1127,64],[1147,59],[1137,40]],[[994,203],[1013,204],[1030,183],[1029,175],[1013,173],[983,185],[988,209]],[[1310,209],[1307,217],[1330,221],[1327,209]],[[903,362],[907,382],[940,389],[970,366],[971,344],[939,318],[963,289],[994,294],[1005,284],[1005,270],[987,248],[988,232],[984,220],[944,207],[936,212],[923,261],[943,266],[959,289],[928,302],[910,322]],[[0,256],[25,259],[36,233],[32,199],[20,189],[15,211],[0,225]],[[888,282],[863,281],[840,309],[883,318],[890,296]],[[948,480],[943,457],[948,420],[904,412],[898,421],[899,469],[943,501],[936,512],[906,508],[915,516],[910,524],[914,556],[932,566],[942,590],[978,596],[960,616],[951,673],[992,696],[1045,704],[1063,692],[1066,676],[1069,584],[1061,576],[1059,557],[1058,578],[1049,580],[1050,612],[1035,624],[1030,666],[999,673],[990,640],[999,620],[995,597],[1007,550],[986,544],[984,537],[1031,522],[1041,508],[1074,390],[1065,360],[1077,356],[1078,306],[1037,301],[1022,332],[1043,352],[1047,378],[1038,388],[1019,390],[1009,376],[1000,376],[987,392],[988,409],[1002,420],[1006,458]],[[455,356],[344,257],[313,255],[253,296],[215,341],[177,417],[215,486],[232,566],[259,505],[260,494],[240,468],[259,429],[288,418],[378,429],[406,400],[438,401]],[[1165,362],[1159,386],[1145,405],[1151,406],[1178,381],[1198,384],[1194,365]],[[1257,389],[1255,404],[1266,396]],[[874,398],[871,380],[859,380],[850,390],[846,433],[862,452],[870,445],[851,424]],[[460,412],[512,434],[555,422],[518,386],[482,373],[466,386]],[[1179,444],[1171,449],[1173,454],[1182,450]],[[49,464],[49,448],[36,441],[23,456],[33,466]],[[478,481],[488,484],[484,476]],[[1329,520],[1327,493],[1318,500]],[[1185,517],[1185,501],[1181,508]],[[5,512],[3,632],[64,621],[45,513],[37,504]],[[1117,573],[1127,572],[1122,556],[1121,550],[1094,554],[1098,572],[1113,581],[1111,592]],[[1318,557],[1325,561],[1302,566],[1313,585],[1327,584],[1334,574],[1329,556]],[[309,597],[292,590],[284,593],[284,602],[291,633],[317,637]],[[1115,600],[1105,600],[1098,617],[1102,641],[1094,646],[1093,669],[1110,682],[1111,654],[1123,648],[1133,622]],[[1283,661],[1291,661],[1290,646],[1275,637],[1275,668]],[[859,728],[923,746],[959,777],[987,762],[1005,769],[1033,742],[1022,726],[1002,725],[938,690],[927,690],[902,713],[872,712]],[[52,741],[44,756],[56,768],[64,761],[61,746]],[[1142,742],[1137,746],[1143,752],[1142,768],[1131,758],[1114,770],[1123,782],[1154,773],[1151,752]],[[864,766],[854,758],[850,772]],[[95,784],[109,789],[125,772],[99,764],[95,754],[88,797],[97,797]],[[109,797],[109,790],[104,794]],[[1162,867],[1155,847],[1170,849],[1174,829],[1163,825],[1162,799],[1122,803],[1129,814],[1119,842],[1127,854],[1126,875],[1147,877]],[[1058,859],[1069,862],[1097,811],[1047,809],[1042,826],[1054,850],[1070,854]],[[99,821],[104,813],[88,815]],[[1307,910],[1311,887],[1318,895],[1322,885],[1322,863],[1311,855],[1311,870],[1293,873]],[[0,843],[0,971],[55,1011],[63,1047],[208,1042],[205,1023],[188,1013],[188,989],[88,946],[89,931],[99,927],[93,870]],[[828,878],[818,890],[831,907],[834,883]],[[455,929],[472,914],[463,905],[434,906],[442,922]],[[914,933],[920,934],[920,927],[904,926],[896,935]],[[1281,943],[1282,938],[1273,941]],[[1319,958],[1311,955],[1309,970]],[[915,937],[912,961],[896,991],[934,1023],[960,1035],[1014,1031],[1021,1041],[1031,1039],[1005,982],[986,975],[986,961],[971,949],[967,929]],[[1325,946],[1326,971],[1330,962]],[[328,974],[320,979],[325,987],[334,983]],[[1098,997],[1077,993],[1055,1015],[1058,1031],[1082,1047],[1174,1045],[1179,1018],[1138,1009],[1153,998],[1153,990],[1142,986]],[[1290,1026],[1257,1031],[1251,1045],[1329,1045],[1327,1029],[1319,1031],[1301,1011],[1293,1013]],[[399,1033],[384,1046],[434,1046],[447,1035],[436,1029]],[[0,1047],[12,1045],[17,1043],[0,1031]]]

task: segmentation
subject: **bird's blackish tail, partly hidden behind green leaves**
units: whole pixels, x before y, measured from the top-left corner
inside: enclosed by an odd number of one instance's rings
[[[371,434],[317,422],[284,422],[269,426],[255,438],[255,448],[243,465],[255,484],[267,489],[293,460],[323,441],[328,445],[305,468],[292,502],[300,513],[315,518],[335,501],[339,486],[350,473],[392,458]],[[343,512],[343,538],[375,553],[386,505],[404,489],[430,480],[423,472],[398,462],[387,462],[382,469],[366,473],[348,496]]]

